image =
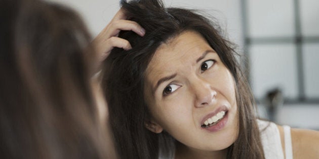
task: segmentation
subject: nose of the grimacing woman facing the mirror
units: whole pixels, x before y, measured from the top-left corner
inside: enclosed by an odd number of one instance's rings
[[[217,92],[209,82],[196,80],[196,82],[192,84],[192,87],[195,95],[195,107],[201,108],[212,104]]]

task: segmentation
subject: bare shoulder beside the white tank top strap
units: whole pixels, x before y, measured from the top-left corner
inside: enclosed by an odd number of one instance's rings
[[[319,158],[319,131],[291,129],[294,158]]]

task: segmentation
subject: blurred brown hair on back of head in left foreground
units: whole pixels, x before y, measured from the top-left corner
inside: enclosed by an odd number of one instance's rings
[[[106,157],[82,20],[32,0],[1,1],[0,11],[0,157]]]

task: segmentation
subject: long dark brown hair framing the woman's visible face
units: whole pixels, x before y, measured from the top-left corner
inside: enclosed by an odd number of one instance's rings
[[[104,65],[103,87],[118,154],[122,158],[172,154],[169,151],[174,144],[170,143],[174,139],[168,133],[155,134],[144,127],[150,120],[144,100],[145,70],[158,46],[192,30],[207,40],[235,79],[240,130],[237,140],[228,147],[227,158],[264,158],[252,93],[236,62],[233,44],[221,36],[216,23],[192,10],[165,8],[160,0],[121,4],[129,20],[139,23],[146,34],[140,37],[132,31],[122,31],[119,37],[129,40],[133,49],[113,49]]]

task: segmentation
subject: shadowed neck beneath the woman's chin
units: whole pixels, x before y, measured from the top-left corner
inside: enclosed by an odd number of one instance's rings
[[[217,158],[225,159],[227,157],[227,148],[218,151],[206,151],[188,147],[180,142],[176,143],[175,159],[180,158]]]

